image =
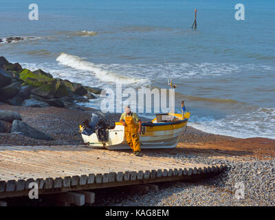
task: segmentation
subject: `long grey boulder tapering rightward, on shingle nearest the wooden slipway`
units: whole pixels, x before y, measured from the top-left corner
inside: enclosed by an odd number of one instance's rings
[[[54,140],[50,135],[46,135],[42,131],[34,129],[25,122],[14,120],[12,122],[11,133],[21,133],[24,136],[32,137],[39,140]]]

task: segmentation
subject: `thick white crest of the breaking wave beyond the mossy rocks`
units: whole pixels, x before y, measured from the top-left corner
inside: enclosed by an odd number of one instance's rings
[[[99,80],[106,83],[144,85],[150,82],[147,78],[135,78],[135,77],[129,76],[133,74],[120,75],[114,72],[109,72],[107,70],[102,69],[100,65],[96,65],[95,63],[84,61],[82,58],[78,56],[74,56],[66,53],[62,53],[60,56],[58,56],[58,58],[56,58],[56,61],[58,61],[60,64],[65,65],[67,67],[72,67],[74,69],[91,72]]]

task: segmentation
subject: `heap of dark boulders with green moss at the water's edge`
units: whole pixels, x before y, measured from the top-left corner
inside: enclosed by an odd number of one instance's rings
[[[89,102],[101,91],[96,87],[54,78],[41,69],[31,72],[19,63],[10,63],[0,56],[0,104],[82,109],[76,102]]]

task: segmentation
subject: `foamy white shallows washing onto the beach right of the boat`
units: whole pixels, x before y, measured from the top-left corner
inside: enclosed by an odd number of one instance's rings
[[[266,137],[275,139],[275,109],[257,108],[248,113],[199,117],[192,115],[190,126],[201,131],[239,138]]]

